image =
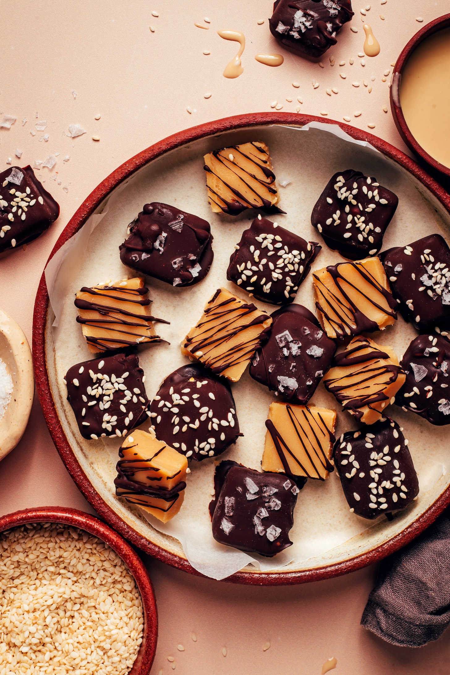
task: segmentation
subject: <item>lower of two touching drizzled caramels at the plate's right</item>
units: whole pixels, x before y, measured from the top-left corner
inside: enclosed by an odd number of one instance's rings
[[[366,424],[381,418],[404,381],[405,373],[392,348],[362,335],[335,355],[323,379],[342,410]]]

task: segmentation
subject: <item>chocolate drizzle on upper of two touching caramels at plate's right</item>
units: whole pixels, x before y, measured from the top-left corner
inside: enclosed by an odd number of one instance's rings
[[[339,270],[340,267],[352,267],[356,273],[370,285],[370,288],[373,289],[374,294],[379,294],[385,298],[387,305],[383,306],[380,302],[377,302],[374,297],[369,296],[362,291],[360,286],[356,286],[351,283],[349,279],[345,277],[343,273]],[[368,332],[371,333],[380,328],[380,325],[376,321],[372,321],[367,317],[362,310],[357,306],[354,300],[349,298],[349,295],[343,288],[344,284],[350,286],[354,291],[358,292],[365,300],[368,300],[370,304],[378,311],[383,313],[386,318],[391,317],[392,319],[397,319],[397,312],[395,307],[397,303],[391,295],[391,292],[384,288],[375,277],[370,274],[368,269],[364,267],[364,261],[358,263],[338,263],[337,265],[329,265],[327,267],[327,272],[333,278],[335,284],[335,292],[327,288],[323,283],[320,277],[317,274],[313,274],[314,277],[314,290],[316,294],[316,308],[323,317],[327,319],[331,329],[335,331],[336,335],[329,335],[329,337],[337,337],[339,339],[346,338],[349,335],[357,335],[358,333]],[[381,298],[380,298],[381,300]],[[337,318],[335,318],[337,317]]]

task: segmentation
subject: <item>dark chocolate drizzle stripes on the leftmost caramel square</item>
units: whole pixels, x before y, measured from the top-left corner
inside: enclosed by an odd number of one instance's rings
[[[115,295],[112,295],[111,293],[102,293],[102,291],[113,291]],[[80,293],[86,293],[90,296],[99,296],[101,298],[109,298],[121,303],[130,302],[142,307],[148,306],[152,302],[152,300],[149,300],[148,298],[140,297],[148,294],[148,288],[145,287],[133,289],[126,287],[121,288],[120,286],[96,286],[95,288],[83,286]],[[95,316],[76,317],[77,323],[105,331],[105,336],[101,338],[95,337],[94,335],[84,335],[88,345],[97,347],[95,350],[96,352],[136,345],[136,343],[142,344],[142,342],[161,342],[159,335],[152,334],[152,322],[158,321],[159,323],[169,323],[169,321],[165,321],[165,319],[157,319],[157,317],[144,315],[142,313],[130,312],[125,310],[123,306],[91,302],[85,298],[76,298],[74,304],[76,308],[84,312],[95,312],[101,315],[101,317],[108,317],[105,319]],[[132,321],[131,319],[136,319],[136,321]],[[129,330],[130,328],[140,328],[141,330],[136,332]],[[111,337],[108,335],[108,332],[112,333]],[[116,337],[113,337],[113,335],[116,335]],[[133,339],[122,336],[130,336]]]

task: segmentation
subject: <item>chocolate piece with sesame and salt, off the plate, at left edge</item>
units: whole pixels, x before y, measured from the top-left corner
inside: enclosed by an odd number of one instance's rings
[[[27,188],[29,192],[26,192]],[[11,190],[14,190],[13,194]],[[4,234],[0,238],[0,253],[32,242],[58,216],[59,205],[40,184],[30,165],[23,169],[8,167],[0,173],[0,229]],[[4,232],[3,227],[9,229]]]

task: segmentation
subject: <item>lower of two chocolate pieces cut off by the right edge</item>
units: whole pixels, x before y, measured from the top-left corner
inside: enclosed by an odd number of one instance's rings
[[[406,379],[395,395],[395,404],[439,427],[450,424],[449,340],[441,335],[418,335],[407,348],[400,365]],[[413,387],[420,393],[417,394]]]

